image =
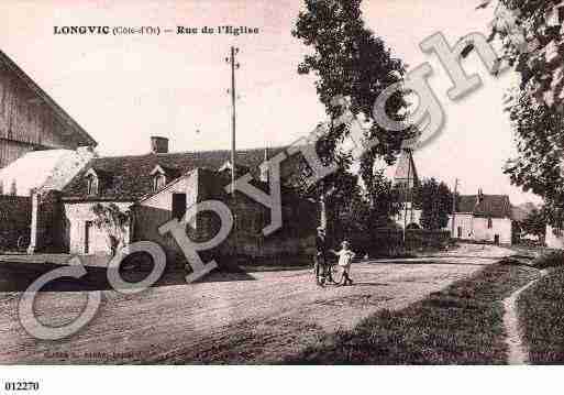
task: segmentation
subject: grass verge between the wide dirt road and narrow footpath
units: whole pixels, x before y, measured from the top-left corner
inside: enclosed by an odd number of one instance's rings
[[[504,364],[502,299],[537,271],[494,264],[399,311],[322,337],[290,364]]]

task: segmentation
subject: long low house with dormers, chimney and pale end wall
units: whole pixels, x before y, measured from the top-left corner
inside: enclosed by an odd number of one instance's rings
[[[250,172],[255,186],[267,190],[267,174],[259,169],[259,164],[265,156],[281,150],[239,151],[237,176]],[[93,157],[62,190],[44,190],[41,197],[34,196],[32,241],[35,240],[37,250],[109,253],[107,233],[96,227],[92,208],[113,204],[131,213],[125,243],[157,242],[170,260],[179,262],[184,256],[174,239],[161,235],[158,227],[180,218],[195,202],[215,199],[224,201],[235,217],[235,231],[220,245],[220,254],[266,257],[311,253],[308,249],[314,243],[316,204],[300,198],[292,188],[283,187],[284,227],[272,237],[263,237],[261,231],[269,223],[269,210],[242,194],[233,198],[224,191],[231,183],[230,156],[230,151],[169,153],[168,140],[155,136],[152,151],[145,155]],[[281,171],[283,177],[288,174],[284,163]],[[189,231],[193,238],[207,240],[213,235],[214,220],[213,215],[198,216]],[[59,235],[57,240],[46,240],[53,234]]]

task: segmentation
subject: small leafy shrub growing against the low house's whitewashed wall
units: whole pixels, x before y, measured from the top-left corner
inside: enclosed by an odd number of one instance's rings
[[[111,255],[114,256],[120,245],[125,244],[128,224],[130,223],[130,212],[122,211],[118,205],[96,204],[91,211],[96,216],[93,224],[106,232],[108,246]]]

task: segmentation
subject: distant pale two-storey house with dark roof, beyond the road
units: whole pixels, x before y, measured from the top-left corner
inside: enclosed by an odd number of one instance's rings
[[[456,200],[454,234],[461,240],[512,243],[512,207],[507,195],[461,195]],[[452,216],[449,227],[452,228]]]

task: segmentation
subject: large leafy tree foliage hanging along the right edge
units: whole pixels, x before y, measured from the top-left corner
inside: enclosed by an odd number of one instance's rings
[[[482,0],[486,8],[491,0]],[[564,4],[562,1],[499,0],[490,40],[521,76],[507,97],[518,155],[505,172],[513,185],[544,198],[549,223],[561,226],[564,212]]]

